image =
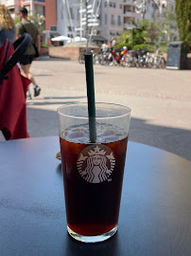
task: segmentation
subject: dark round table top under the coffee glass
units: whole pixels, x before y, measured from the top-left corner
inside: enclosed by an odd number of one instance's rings
[[[191,162],[129,142],[117,233],[67,234],[59,137],[0,142],[1,256],[190,256]]]

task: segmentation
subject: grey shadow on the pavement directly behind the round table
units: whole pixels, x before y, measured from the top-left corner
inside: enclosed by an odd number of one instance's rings
[[[58,136],[57,112],[27,107],[27,128],[30,137]],[[131,118],[129,139],[191,160],[189,130],[153,125],[146,119]]]

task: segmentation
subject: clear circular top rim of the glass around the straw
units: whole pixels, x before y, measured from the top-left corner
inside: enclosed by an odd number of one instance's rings
[[[123,109],[126,109],[126,113],[125,114],[118,114],[118,115],[113,115],[113,116],[106,116],[106,117],[96,117],[96,119],[114,119],[114,118],[122,118],[122,117],[126,117],[130,115],[131,109],[128,106],[125,105],[121,105],[121,104],[115,104],[115,103],[109,103],[109,102],[96,102],[96,105],[107,105],[107,106],[117,106]],[[81,117],[81,116],[75,116],[75,115],[69,115],[69,114],[63,114],[61,113],[61,109],[67,108],[67,107],[73,107],[73,106],[79,106],[79,105],[87,105],[88,106],[88,102],[79,102],[79,103],[67,103],[65,105],[61,105],[58,109],[57,109],[57,113],[59,115],[61,115],[62,117],[67,117],[67,118],[73,118],[73,119],[89,119],[89,117]]]

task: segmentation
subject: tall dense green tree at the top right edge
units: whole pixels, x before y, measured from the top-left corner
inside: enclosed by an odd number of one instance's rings
[[[191,49],[191,1],[176,0],[176,13],[180,40]]]

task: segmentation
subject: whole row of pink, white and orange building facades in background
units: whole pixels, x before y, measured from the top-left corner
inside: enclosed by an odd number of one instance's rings
[[[12,16],[19,7],[26,7],[30,14],[44,17],[44,41],[50,44],[52,37],[59,34],[86,37],[85,0],[0,0]],[[90,18],[96,18],[92,33],[106,40],[117,37],[130,24],[140,20],[157,21],[168,4],[175,9],[175,0],[90,0],[88,3]],[[143,11],[144,10],[144,11]],[[92,12],[91,12],[92,11]],[[93,15],[95,14],[95,16]]]

